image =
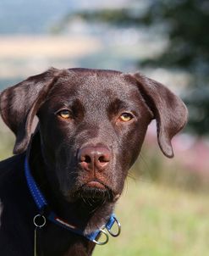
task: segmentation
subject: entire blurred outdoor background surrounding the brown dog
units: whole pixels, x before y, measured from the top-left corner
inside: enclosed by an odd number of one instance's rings
[[[208,24],[207,0],[0,2],[0,91],[51,66],[140,70],[189,108],[174,159],[162,155],[151,123],[116,209],[122,235],[95,255],[208,254]],[[5,159],[14,135],[2,120],[0,138]]]

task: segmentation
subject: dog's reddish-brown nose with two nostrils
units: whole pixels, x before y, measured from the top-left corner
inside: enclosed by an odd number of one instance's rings
[[[78,153],[78,161],[84,170],[104,170],[110,159],[107,147],[84,147]]]

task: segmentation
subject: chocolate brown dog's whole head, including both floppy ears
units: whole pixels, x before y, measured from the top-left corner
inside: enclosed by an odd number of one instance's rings
[[[167,157],[187,120],[184,103],[162,84],[111,70],[50,69],[3,91],[0,103],[14,153],[28,147],[38,116],[43,158],[68,200],[116,200],[151,120]]]

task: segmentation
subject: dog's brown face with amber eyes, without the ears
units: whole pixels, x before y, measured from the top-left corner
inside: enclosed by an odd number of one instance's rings
[[[56,81],[38,117],[43,152],[63,194],[100,197],[108,190],[115,198],[152,116],[124,75],[74,70]]]

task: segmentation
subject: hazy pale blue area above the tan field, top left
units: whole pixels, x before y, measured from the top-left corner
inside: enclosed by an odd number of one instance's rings
[[[0,35],[43,34],[65,14],[81,8],[118,7],[128,0],[1,0]]]

